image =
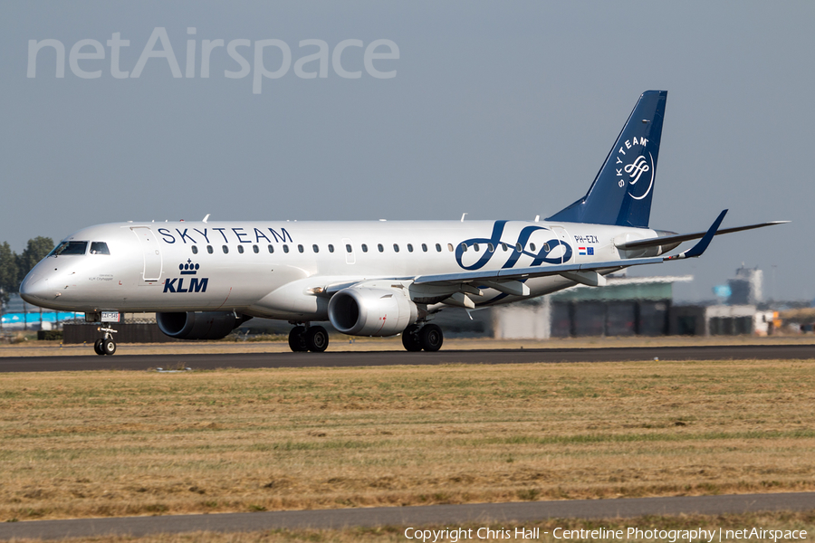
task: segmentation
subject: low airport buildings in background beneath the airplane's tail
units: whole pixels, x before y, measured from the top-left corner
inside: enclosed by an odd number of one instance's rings
[[[759,310],[762,271],[742,266],[714,303],[676,304],[673,285],[693,276],[609,276],[602,288],[576,286],[493,310],[501,339],[608,336],[738,336],[772,334],[777,311]],[[805,328],[803,328],[805,330]]]

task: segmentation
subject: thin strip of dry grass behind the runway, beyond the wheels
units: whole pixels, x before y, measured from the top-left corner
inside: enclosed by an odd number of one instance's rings
[[[283,338],[284,339],[284,338]],[[445,350],[503,349],[503,348],[615,348],[615,347],[698,347],[702,345],[810,345],[815,335],[797,336],[659,336],[648,338],[551,338],[493,339],[493,338],[446,338]],[[402,341],[394,338],[350,338],[332,335],[330,352],[363,351],[404,352]],[[122,343],[117,346],[116,356],[155,354],[222,354],[222,353],[288,353],[288,341],[181,341],[177,343]],[[93,354],[93,346],[60,345],[54,341],[27,341],[16,345],[0,345],[2,357],[52,357],[87,356]]]

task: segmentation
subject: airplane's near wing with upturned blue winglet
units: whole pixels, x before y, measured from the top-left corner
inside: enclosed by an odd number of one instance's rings
[[[601,275],[601,271],[614,271],[629,266],[640,266],[644,264],[657,264],[666,261],[680,260],[685,258],[695,258],[701,256],[710,245],[716,234],[719,225],[727,214],[725,209],[714,221],[714,224],[702,234],[702,239],[686,252],[680,252],[673,256],[655,256],[649,258],[620,259],[606,262],[586,262],[582,264],[555,264],[551,266],[533,266],[530,268],[508,268],[505,270],[479,270],[461,271],[456,273],[441,273],[437,275],[419,275],[413,283],[417,285],[453,285],[464,282],[474,282],[492,287],[498,291],[508,294],[525,296],[529,294],[529,287],[523,284],[523,280],[533,277],[545,277],[547,275],[562,275],[571,281],[577,281],[590,286],[602,286],[606,284],[606,278]],[[663,240],[665,238],[659,238]]]

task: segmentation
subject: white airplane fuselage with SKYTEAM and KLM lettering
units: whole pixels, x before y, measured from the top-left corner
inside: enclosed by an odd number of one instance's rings
[[[523,221],[229,222],[101,224],[66,241],[82,254],[49,256],[25,278],[25,300],[54,310],[235,311],[293,321],[326,320],[332,285],[472,270],[608,262],[615,243],[655,237],[644,228]],[[103,242],[110,254],[91,253]],[[466,251],[462,245],[466,245]],[[525,283],[529,297],[574,283],[553,275]],[[391,285],[396,286],[396,285]],[[429,306],[449,292],[414,289]],[[486,306],[520,300],[490,288]]]

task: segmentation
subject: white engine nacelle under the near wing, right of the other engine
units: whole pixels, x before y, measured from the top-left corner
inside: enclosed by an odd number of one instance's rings
[[[329,301],[335,329],[350,336],[393,336],[416,322],[416,304],[406,291],[350,287]]]

